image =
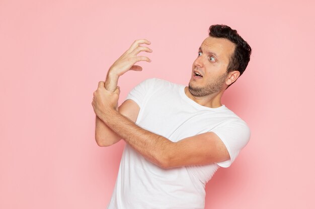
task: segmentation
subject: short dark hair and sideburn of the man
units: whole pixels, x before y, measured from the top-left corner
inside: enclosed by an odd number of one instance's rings
[[[233,30],[226,25],[210,26],[209,36],[225,38],[236,45],[233,55],[229,58],[226,71],[229,73],[237,70],[240,71],[241,76],[250,62],[250,56],[252,54],[250,45],[238,34],[237,30]]]

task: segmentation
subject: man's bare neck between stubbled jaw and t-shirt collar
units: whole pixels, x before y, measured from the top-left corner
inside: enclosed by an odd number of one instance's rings
[[[213,93],[207,96],[203,97],[196,97],[192,95],[188,89],[188,87],[185,87],[185,94],[187,95],[188,98],[191,100],[195,101],[196,103],[205,106],[205,107],[210,107],[210,108],[217,108],[222,106],[221,104],[221,97],[223,95],[224,91],[220,91],[217,93]]]

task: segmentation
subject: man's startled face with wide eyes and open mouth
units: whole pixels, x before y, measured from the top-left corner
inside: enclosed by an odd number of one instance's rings
[[[224,38],[209,36],[202,42],[189,81],[189,91],[192,95],[202,97],[221,91],[234,48],[235,44]]]

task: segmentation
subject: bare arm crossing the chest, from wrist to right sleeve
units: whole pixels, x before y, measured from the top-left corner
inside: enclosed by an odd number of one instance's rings
[[[106,109],[106,113],[99,117],[147,160],[163,168],[210,164],[229,159],[225,145],[213,132],[172,142],[137,126],[113,108]]]

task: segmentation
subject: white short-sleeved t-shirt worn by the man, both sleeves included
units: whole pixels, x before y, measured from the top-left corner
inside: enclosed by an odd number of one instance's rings
[[[229,167],[248,143],[250,129],[240,117],[225,105],[199,105],[184,89],[157,78],[138,84],[126,97],[140,107],[136,124],[173,142],[212,131],[225,144],[230,159],[164,169],[126,143],[107,209],[204,209],[206,182],[219,166]]]

